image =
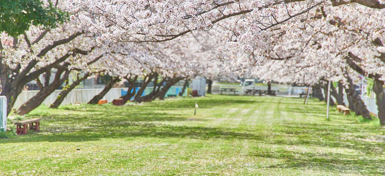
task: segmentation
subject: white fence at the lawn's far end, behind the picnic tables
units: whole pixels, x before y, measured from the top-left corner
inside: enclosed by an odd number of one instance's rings
[[[244,94],[242,85],[213,85],[211,92],[219,94],[223,88],[235,89],[235,94]],[[261,91],[267,91],[268,86],[260,85],[255,86],[255,89]],[[299,96],[302,92],[306,91],[308,87],[291,87],[291,86],[271,86],[271,90],[276,91],[277,96]]]

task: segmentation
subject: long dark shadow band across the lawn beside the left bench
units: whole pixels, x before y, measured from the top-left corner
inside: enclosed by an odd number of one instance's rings
[[[50,128],[49,135],[32,133],[20,139],[3,140],[0,143],[12,142],[80,142],[97,141],[102,138],[157,137],[157,138],[190,138],[190,139],[250,139],[263,140],[266,136],[249,133],[231,132],[229,129],[196,126],[169,126],[148,122],[121,122],[102,124],[97,127],[72,129],[66,127]],[[44,132],[44,131],[42,131]],[[47,132],[47,131],[45,131]],[[110,133],[111,132],[111,133]]]

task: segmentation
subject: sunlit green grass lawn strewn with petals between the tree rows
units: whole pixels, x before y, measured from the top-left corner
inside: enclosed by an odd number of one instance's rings
[[[43,118],[40,132],[0,139],[0,175],[385,174],[378,120],[341,116],[332,107],[326,121],[323,102],[302,102],[208,95],[39,107],[13,121]]]

